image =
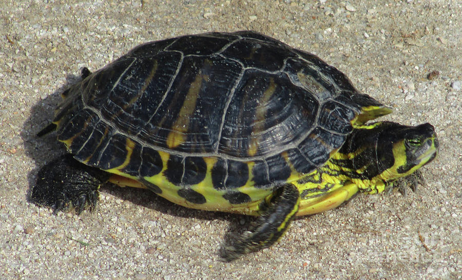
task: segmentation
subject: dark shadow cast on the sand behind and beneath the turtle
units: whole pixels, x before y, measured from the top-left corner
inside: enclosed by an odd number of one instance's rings
[[[68,74],[66,76],[66,82],[61,87],[32,106],[30,109],[30,116],[23,124],[20,135],[23,139],[24,151],[26,156],[32,158],[37,166],[27,174],[29,188],[26,192],[26,201],[29,203],[33,203],[30,199],[30,194],[35,185],[38,171],[46,163],[66,153],[65,146],[56,140],[56,134],[54,132],[50,132],[41,137],[36,136],[36,134],[51,123],[54,110],[62,101],[61,94],[80,81],[80,75]],[[229,215],[233,215],[229,213],[186,208],[169,202],[167,199],[147,189],[122,188],[107,183],[103,185],[100,191],[110,193],[124,201],[129,201],[142,207],[178,217],[198,218],[209,221],[216,219],[229,221]],[[37,205],[37,207],[42,206]]]

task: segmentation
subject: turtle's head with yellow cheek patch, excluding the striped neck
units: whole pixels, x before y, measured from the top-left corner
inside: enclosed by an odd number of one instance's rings
[[[384,181],[409,175],[431,162],[438,154],[439,142],[430,124],[403,126],[377,123],[375,145],[378,170]]]

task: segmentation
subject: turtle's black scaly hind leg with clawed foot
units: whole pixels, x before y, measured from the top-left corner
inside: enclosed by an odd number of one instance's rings
[[[109,173],[86,166],[71,154],[66,154],[38,171],[30,200],[38,205],[54,207],[54,214],[70,205],[80,214],[86,207],[96,207],[98,189],[108,178]]]

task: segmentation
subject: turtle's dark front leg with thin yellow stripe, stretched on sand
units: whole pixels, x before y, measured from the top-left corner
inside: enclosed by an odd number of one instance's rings
[[[232,246],[221,249],[223,261],[230,262],[249,252],[268,248],[279,240],[295,217],[300,203],[300,193],[293,184],[282,187],[249,231]]]

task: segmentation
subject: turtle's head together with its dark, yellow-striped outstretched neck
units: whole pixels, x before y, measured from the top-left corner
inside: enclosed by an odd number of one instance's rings
[[[343,165],[353,170],[352,177],[360,181],[393,182],[431,162],[438,148],[435,129],[430,124],[378,122],[354,129],[338,156],[347,158]]]

